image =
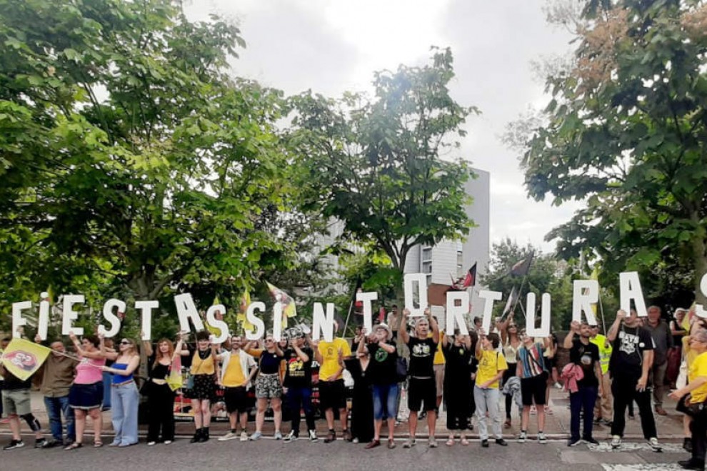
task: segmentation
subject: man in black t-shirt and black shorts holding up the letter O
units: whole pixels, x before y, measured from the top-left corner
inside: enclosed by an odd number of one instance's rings
[[[410,310],[403,310],[403,326],[407,326]],[[432,337],[428,338],[428,333],[432,331]],[[434,379],[434,354],[439,343],[439,328],[437,321],[432,317],[429,309],[425,310],[423,317],[415,320],[415,335],[411,337],[406,329],[400,332],[401,340],[410,349],[410,366],[408,375],[410,385],[408,386],[408,408],[410,417],[410,438],[403,445],[409,448],[415,445],[415,433],[417,431],[417,411],[424,405],[427,411],[427,427],[429,430],[429,446],[437,447],[437,440],[434,437],[434,428],[437,423],[437,386]]]

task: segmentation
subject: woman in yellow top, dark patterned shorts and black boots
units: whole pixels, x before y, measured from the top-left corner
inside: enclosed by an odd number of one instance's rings
[[[191,399],[196,430],[191,443],[209,440],[211,426],[211,398],[214,397],[219,380],[219,362],[216,360],[217,345],[211,343],[209,332],[199,330],[196,333],[196,352],[191,359],[191,376],[194,387],[184,391],[184,396]]]

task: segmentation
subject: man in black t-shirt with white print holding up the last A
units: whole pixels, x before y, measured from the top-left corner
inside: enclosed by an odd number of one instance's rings
[[[611,447],[621,446],[621,437],[626,427],[626,407],[635,400],[641,413],[643,436],[653,451],[660,452],[662,447],[658,444],[656,420],[651,410],[651,392],[646,387],[648,373],[653,365],[651,333],[641,327],[635,310],[632,309],[631,315],[628,316],[626,311],[619,310],[606,338],[613,343],[613,353],[609,361],[609,371],[613,378]]]

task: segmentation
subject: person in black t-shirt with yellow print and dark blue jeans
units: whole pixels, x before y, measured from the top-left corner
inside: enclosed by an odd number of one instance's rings
[[[309,440],[316,442],[316,426],[314,425],[314,412],[312,411],[312,359],[314,351],[304,344],[304,333],[294,333],[291,347],[285,350],[285,380],[287,400],[292,415],[292,429],[285,437],[285,442],[299,437],[300,408],[304,410],[304,419],[307,422]]]

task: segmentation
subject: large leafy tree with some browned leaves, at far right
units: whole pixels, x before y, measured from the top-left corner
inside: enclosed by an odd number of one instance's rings
[[[606,273],[686,267],[705,302],[707,5],[592,0],[575,24],[572,65],[547,76],[522,158],[528,195],[586,202],[548,238]]]

